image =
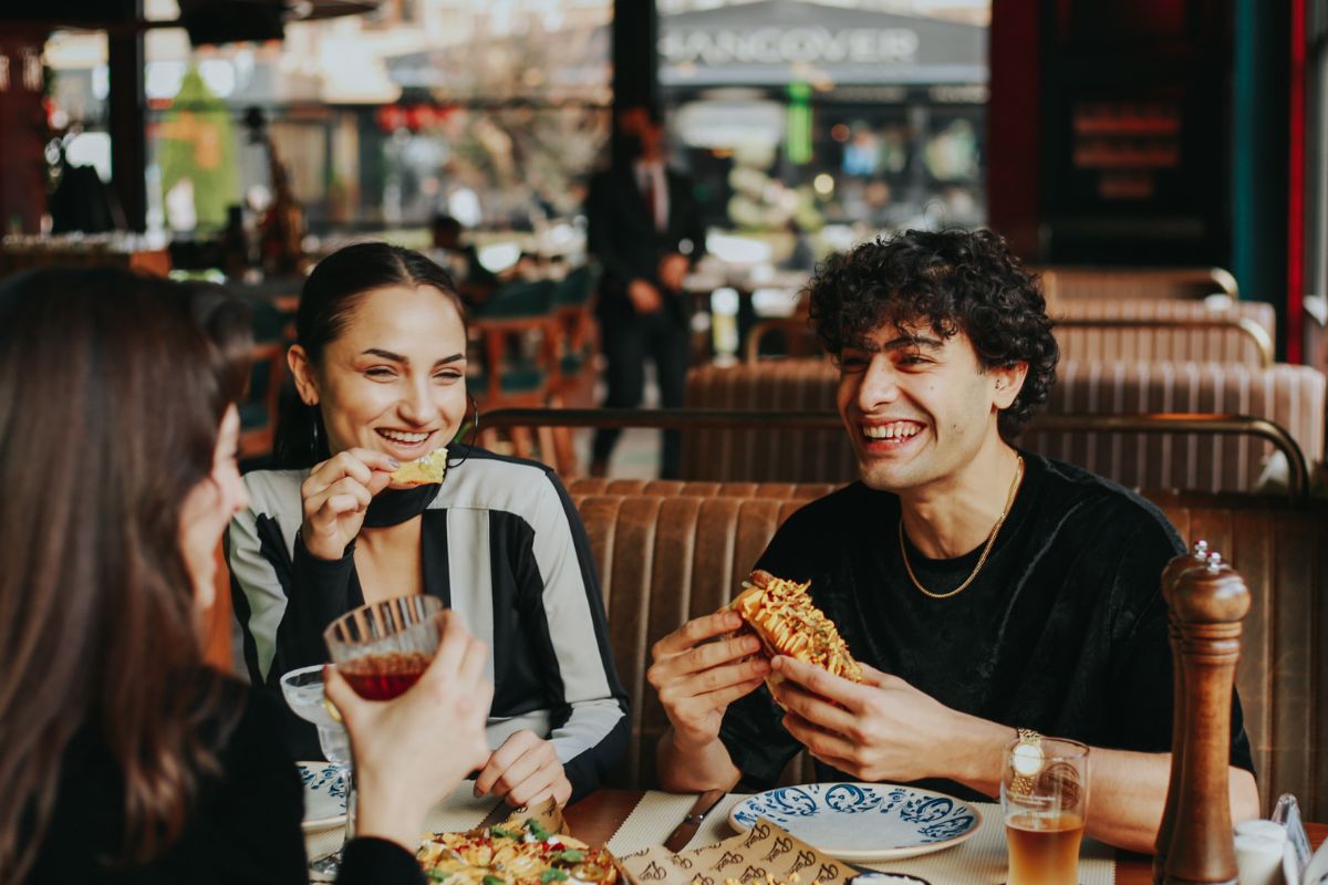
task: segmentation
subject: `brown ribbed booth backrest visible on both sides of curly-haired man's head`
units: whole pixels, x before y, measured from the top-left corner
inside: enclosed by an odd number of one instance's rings
[[[821,360],[701,366],[685,405],[773,411],[833,410],[838,374]],[[1308,366],[1065,361],[1048,414],[1236,413],[1284,427],[1305,459],[1324,455],[1324,375]],[[1036,427],[1036,421],[1035,421]],[[1035,433],[1020,444],[1130,487],[1252,491],[1271,446],[1251,437]],[[683,437],[683,478],[845,483],[857,479],[847,434],[831,430],[704,430]]]

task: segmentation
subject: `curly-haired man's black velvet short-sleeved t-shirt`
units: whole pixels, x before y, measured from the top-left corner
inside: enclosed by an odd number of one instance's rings
[[[854,657],[947,707],[1094,747],[1166,752],[1171,649],[1159,579],[1185,547],[1138,495],[1040,455],[1024,454],[1024,464],[987,563],[950,598],[914,586],[899,498],[862,483],[790,516],[757,567],[811,581]],[[932,593],[959,586],[983,549],[928,560],[904,543]],[[1254,771],[1239,701],[1232,707],[1231,764]],[[773,784],[801,750],[781,719],[764,686],[729,707],[720,736],[745,785]],[[821,762],[817,776],[851,780]],[[951,782],[928,785],[976,797]]]

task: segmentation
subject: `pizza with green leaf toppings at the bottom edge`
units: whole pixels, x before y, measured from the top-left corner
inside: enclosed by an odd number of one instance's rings
[[[467,833],[434,833],[416,853],[430,882],[448,885],[614,885],[618,866],[603,848],[552,832],[548,819],[514,815]]]

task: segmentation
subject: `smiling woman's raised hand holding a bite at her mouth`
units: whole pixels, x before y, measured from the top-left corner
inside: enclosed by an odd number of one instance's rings
[[[309,471],[300,486],[304,549],[323,560],[339,560],[360,533],[373,496],[386,488],[401,463],[371,448],[347,448]]]

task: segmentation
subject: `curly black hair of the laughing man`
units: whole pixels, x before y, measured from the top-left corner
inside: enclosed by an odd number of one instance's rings
[[[991,231],[904,231],[835,255],[809,285],[811,325],[838,356],[883,324],[930,322],[968,336],[983,369],[1028,364],[1024,387],[1000,413],[1005,439],[1046,401],[1060,349],[1036,275]]]

